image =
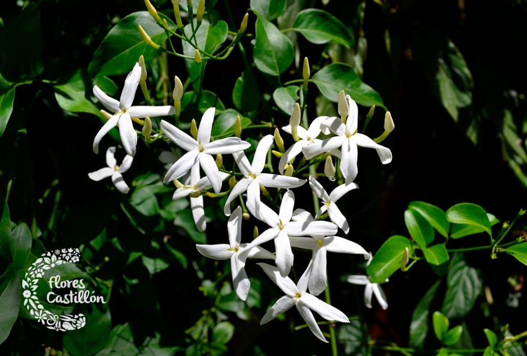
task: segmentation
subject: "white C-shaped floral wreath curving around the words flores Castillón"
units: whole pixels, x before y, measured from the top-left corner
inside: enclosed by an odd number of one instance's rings
[[[57,265],[75,263],[80,260],[79,249],[62,249],[54,252],[43,253],[31,266],[22,280],[22,295],[24,306],[30,314],[48,329],[56,331],[70,331],[81,329],[86,324],[84,314],[56,315],[44,309],[42,303],[36,296],[38,280],[44,276],[45,271],[51,270]]]

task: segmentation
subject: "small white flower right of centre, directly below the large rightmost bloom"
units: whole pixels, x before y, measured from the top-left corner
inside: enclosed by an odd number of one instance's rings
[[[349,225],[346,217],[338,209],[337,201],[344,196],[347,192],[358,189],[358,185],[355,183],[341,184],[337,186],[331,194],[328,195],[324,187],[316,180],[313,176],[309,176],[309,185],[315,194],[319,197],[321,201],[324,202],[324,205],[320,207],[319,212],[316,217],[328,212],[329,219],[333,221],[337,226],[344,231],[344,233],[349,232]]]

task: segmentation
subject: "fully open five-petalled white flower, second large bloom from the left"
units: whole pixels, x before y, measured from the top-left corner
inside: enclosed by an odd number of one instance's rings
[[[199,162],[199,165],[207,175],[214,192],[219,193],[221,190],[220,171],[214,157],[212,155],[232,154],[248,149],[250,143],[241,141],[238,137],[227,137],[217,141],[210,142],[210,132],[212,130],[212,122],[214,121],[214,112],[216,108],[208,108],[201,117],[199,124],[197,140],[187,135],[174,125],[161,120],[161,128],[163,132],[175,144],[180,146],[183,150],[188,151],[186,154],[176,161],[168,170],[163,178],[163,182],[167,183],[178,179],[187,173],[191,167]]]

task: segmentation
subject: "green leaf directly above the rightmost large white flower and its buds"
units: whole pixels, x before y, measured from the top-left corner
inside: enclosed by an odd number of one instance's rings
[[[379,93],[363,83],[353,68],[344,63],[333,63],[315,73],[311,82],[315,83],[320,93],[332,102],[338,101],[338,93],[344,90],[358,104],[384,107]]]

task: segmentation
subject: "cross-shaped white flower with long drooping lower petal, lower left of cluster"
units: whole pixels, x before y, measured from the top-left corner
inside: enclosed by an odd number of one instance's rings
[[[245,261],[248,257],[257,259],[274,260],[275,255],[262,249],[259,246],[251,248],[249,253],[241,254],[241,250],[247,247],[246,243],[241,243],[241,220],[242,211],[238,206],[232,213],[227,223],[229,233],[229,244],[220,243],[216,245],[196,245],[198,251],[210,259],[231,260],[232,283],[236,294],[241,300],[247,300],[251,282],[245,272]]]

